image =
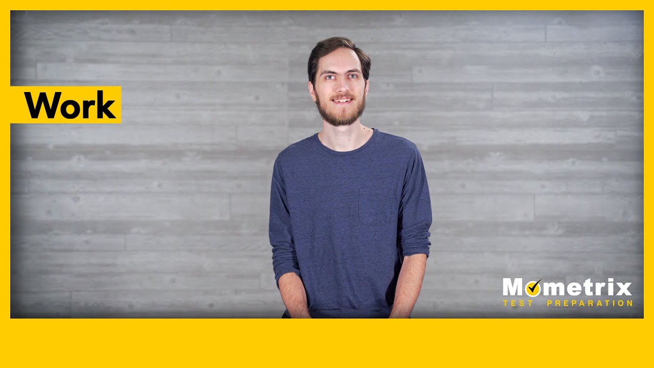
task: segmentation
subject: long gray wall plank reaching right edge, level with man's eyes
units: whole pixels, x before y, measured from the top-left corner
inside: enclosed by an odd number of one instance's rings
[[[38,66],[38,65],[37,65]],[[39,74],[40,75],[40,74]],[[642,65],[560,65],[534,66],[466,65],[440,66],[419,65],[411,67],[411,77],[416,83],[585,83],[642,81]]]

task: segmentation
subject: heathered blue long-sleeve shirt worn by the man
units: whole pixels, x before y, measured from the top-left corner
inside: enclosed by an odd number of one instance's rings
[[[275,160],[275,280],[298,274],[313,318],[387,318],[402,259],[429,255],[431,224],[422,157],[407,139],[374,129],[358,149],[339,152],[314,134]]]

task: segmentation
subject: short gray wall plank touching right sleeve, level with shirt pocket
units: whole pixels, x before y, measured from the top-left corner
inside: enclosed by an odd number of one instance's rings
[[[434,194],[434,221],[532,221],[532,194]]]

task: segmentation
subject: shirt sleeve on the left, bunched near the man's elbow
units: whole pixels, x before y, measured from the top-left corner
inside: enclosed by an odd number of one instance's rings
[[[298,257],[293,244],[293,234],[290,223],[290,213],[286,201],[284,175],[280,158],[277,156],[273,167],[273,179],[270,189],[270,217],[268,223],[268,236],[273,247],[273,270],[275,282],[279,289],[279,278],[288,272],[295,272],[300,276]]]

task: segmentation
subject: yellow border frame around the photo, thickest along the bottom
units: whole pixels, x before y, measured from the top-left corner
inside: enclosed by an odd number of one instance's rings
[[[10,5],[9,10],[645,10],[644,40],[649,39],[645,1],[591,2],[571,6],[569,1],[546,5],[503,1],[488,8],[483,3],[402,3],[357,1],[353,4],[285,3],[254,1],[218,4],[185,1],[164,4],[155,1],[114,0],[108,3],[42,0]],[[616,8],[617,5],[617,8]],[[9,87],[10,12],[3,18],[5,37],[0,47],[5,64],[5,89]],[[644,54],[647,45],[644,42]],[[649,70],[645,60],[644,74]],[[644,103],[651,82],[644,79]],[[6,101],[3,99],[3,101]],[[6,108],[6,104],[3,103]],[[645,248],[651,243],[647,219],[651,213],[650,123],[644,124],[644,221]],[[5,246],[10,244],[10,124],[1,132],[5,180],[2,181],[1,224]],[[10,275],[9,250],[0,255],[3,274]],[[644,252],[645,277],[651,268],[651,253]],[[310,365],[351,367],[354,365],[502,365],[554,366],[625,365],[651,356],[644,336],[651,331],[651,306],[645,304],[643,319],[452,319],[452,320],[281,320],[281,319],[11,319],[10,279],[5,279],[5,302],[1,306],[1,331],[5,366],[53,365]],[[645,283],[645,300],[651,287]],[[647,316],[650,318],[648,319]],[[647,334],[649,335],[649,334]]]

